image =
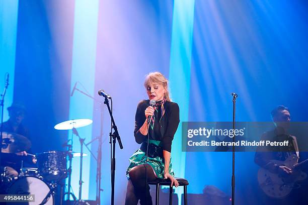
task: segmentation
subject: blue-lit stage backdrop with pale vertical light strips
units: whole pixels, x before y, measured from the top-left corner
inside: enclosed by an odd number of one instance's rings
[[[116,204],[124,204],[128,158],[139,147],[134,116],[138,101],[147,98],[143,80],[151,71],[170,78],[182,122],[232,121],[231,92],[239,95],[237,121],[271,121],[277,105],[289,107],[292,121],[308,120],[306,1],[4,0],[0,12],[0,53],[8,56],[0,57],[0,73],[15,75],[6,102],[25,104],[33,150],[63,150],[70,133],[53,126],[70,118],[92,118],[92,127],[82,130],[86,143],[103,126],[102,204],[111,198],[110,117],[102,105],[101,125],[99,102],[76,90],[70,97],[76,81],[98,101],[101,88],[113,97],[124,146],[116,147]],[[230,196],[232,154],[182,153],[180,138],[178,130],[172,162],[176,175],[189,180],[188,193],[214,185]],[[90,146],[95,154],[97,146]],[[78,140],[74,151],[80,151]],[[85,160],[83,197],[95,200],[96,161]],[[236,154],[237,204],[258,204],[253,160],[252,152]]]

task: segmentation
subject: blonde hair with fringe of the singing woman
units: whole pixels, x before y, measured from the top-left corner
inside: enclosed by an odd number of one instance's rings
[[[164,88],[166,89],[164,97],[168,101],[171,101],[172,99],[170,98],[168,79],[160,72],[150,72],[145,76],[145,80],[144,80],[143,85],[146,89],[147,86],[149,86],[150,83],[154,83],[154,82],[164,86]]]

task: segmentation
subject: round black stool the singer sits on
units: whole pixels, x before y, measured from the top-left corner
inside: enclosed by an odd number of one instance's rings
[[[184,204],[187,205],[187,185],[188,181],[183,178],[176,178],[179,182],[179,186],[184,186]],[[159,205],[160,201],[160,185],[167,185],[170,187],[169,190],[169,205],[172,205],[172,192],[173,192],[173,187],[171,187],[171,181],[169,179],[156,179],[154,181],[148,181],[148,184],[156,185],[156,201],[155,204]]]

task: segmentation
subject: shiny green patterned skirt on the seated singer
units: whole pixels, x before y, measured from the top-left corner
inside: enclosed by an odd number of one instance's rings
[[[149,143],[159,145],[161,141],[156,141],[156,140],[149,140]],[[135,166],[145,164],[146,163],[146,155],[145,153],[138,149],[135,151],[135,153],[129,158],[129,166],[126,170],[126,177],[129,179],[129,174],[128,172]],[[148,157],[147,158],[147,163],[153,168],[155,171],[156,175],[158,178],[163,179],[164,178],[164,170],[165,170],[165,163],[164,159],[161,157]],[[171,159],[170,159],[170,164],[169,164],[169,173],[171,176],[174,176],[174,172],[172,169],[172,164],[171,164]]]

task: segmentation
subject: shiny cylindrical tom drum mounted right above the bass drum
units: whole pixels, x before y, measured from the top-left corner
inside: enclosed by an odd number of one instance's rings
[[[38,172],[47,181],[66,178],[66,153],[48,151],[36,154]]]

